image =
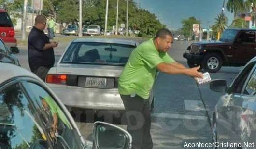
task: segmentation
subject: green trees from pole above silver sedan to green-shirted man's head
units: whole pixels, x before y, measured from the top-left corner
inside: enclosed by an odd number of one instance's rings
[[[108,29],[116,25],[116,6],[117,0],[109,0],[108,8]],[[83,8],[83,24],[84,25],[100,25],[105,26],[106,0],[88,1]],[[126,24],[126,2],[119,0],[118,26]],[[128,2],[128,28],[132,30],[140,30],[140,36],[153,37],[156,31],[165,27],[155,14],[144,9],[136,7],[133,1]]]

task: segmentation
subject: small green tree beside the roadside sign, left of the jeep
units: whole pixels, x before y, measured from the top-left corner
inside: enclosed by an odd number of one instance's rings
[[[183,19],[181,21],[182,28],[181,32],[185,37],[190,37],[193,32],[193,24],[200,24],[200,21],[197,20],[195,17],[189,17],[188,19]]]

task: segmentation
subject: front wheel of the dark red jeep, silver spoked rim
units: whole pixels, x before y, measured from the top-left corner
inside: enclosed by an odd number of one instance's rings
[[[202,66],[205,71],[216,73],[222,66],[222,59],[216,53],[209,53],[204,57]]]

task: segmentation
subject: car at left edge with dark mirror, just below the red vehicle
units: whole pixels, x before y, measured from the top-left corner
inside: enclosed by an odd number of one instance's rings
[[[19,53],[19,49],[17,47],[11,47],[9,50],[0,38],[0,63],[12,63],[20,66],[19,60],[14,56],[14,54],[17,53]]]

